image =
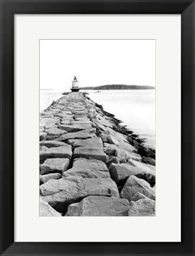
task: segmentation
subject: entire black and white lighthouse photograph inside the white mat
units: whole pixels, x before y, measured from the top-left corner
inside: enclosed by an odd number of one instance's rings
[[[40,217],[155,217],[155,40],[40,39],[39,83]]]

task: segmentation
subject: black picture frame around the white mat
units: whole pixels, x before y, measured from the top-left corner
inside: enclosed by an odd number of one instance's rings
[[[194,1],[0,0],[0,8],[1,255],[194,255]],[[14,242],[14,14],[181,14],[181,242]]]

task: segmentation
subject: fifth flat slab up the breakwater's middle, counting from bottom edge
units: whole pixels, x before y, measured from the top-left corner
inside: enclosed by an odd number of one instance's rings
[[[87,148],[103,148],[102,140],[99,137],[92,137],[90,139],[71,139],[68,143],[74,148],[86,146]]]

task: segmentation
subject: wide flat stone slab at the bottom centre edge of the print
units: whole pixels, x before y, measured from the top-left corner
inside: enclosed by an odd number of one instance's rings
[[[129,207],[126,199],[88,196],[80,203],[70,204],[65,216],[128,216]]]

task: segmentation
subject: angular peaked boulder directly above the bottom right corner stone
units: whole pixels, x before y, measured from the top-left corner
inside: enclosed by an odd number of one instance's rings
[[[132,175],[126,181],[121,191],[121,197],[131,201],[138,192],[144,194],[149,199],[155,200],[155,191],[151,188],[150,184]]]

